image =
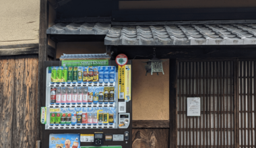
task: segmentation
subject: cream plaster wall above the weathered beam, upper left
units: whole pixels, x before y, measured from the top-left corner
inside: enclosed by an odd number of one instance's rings
[[[40,0],[0,1],[0,46],[39,42]]]

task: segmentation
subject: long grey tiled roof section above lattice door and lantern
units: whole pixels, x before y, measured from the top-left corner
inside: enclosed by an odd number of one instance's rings
[[[105,45],[256,44],[256,24],[113,26]]]

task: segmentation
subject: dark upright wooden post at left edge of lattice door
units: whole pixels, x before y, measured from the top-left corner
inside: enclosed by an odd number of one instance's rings
[[[177,59],[170,59],[169,69],[169,120],[170,120],[170,137],[169,147],[177,148]]]

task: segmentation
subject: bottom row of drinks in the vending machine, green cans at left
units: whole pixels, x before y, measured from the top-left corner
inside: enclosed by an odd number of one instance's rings
[[[71,113],[51,113],[50,114],[50,125],[90,125],[90,124],[110,124],[114,123],[113,113],[87,113],[77,112],[76,114]]]

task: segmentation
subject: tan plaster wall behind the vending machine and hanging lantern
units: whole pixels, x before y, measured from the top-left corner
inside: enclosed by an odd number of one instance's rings
[[[132,48],[132,47],[131,47]],[[65,54],[104,53],[104,42],[59,42],[57,56]],[[133,60],[132,100],[133,120],[168,120],[169,119],[169,61],[164,61],[164,75],[146,76],[145,63]]]

